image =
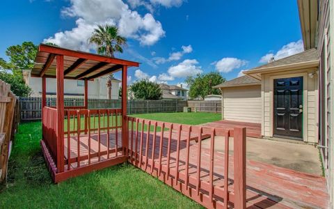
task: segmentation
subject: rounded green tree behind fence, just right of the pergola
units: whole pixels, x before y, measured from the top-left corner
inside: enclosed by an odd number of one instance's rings
[[[136,100],[159,100],[162,96],[159,84],[150,82],[148,79],[134,82],[129,87],[129,91],[131,91]]]

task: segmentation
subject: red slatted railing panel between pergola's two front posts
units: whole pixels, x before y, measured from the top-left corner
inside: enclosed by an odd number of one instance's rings
[[[121,109],[65,110],[67,171],[118,157],[122,151],[121,112]]]

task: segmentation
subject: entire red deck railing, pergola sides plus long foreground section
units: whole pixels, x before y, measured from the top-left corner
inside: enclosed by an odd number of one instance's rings
[[[122,124],[121,109],[65,109],[64,116],[57,136],[57,109],[43,109],[42,149],[56,183],[129,161],[207,208],[246,206],[246,128],[127,116]]]

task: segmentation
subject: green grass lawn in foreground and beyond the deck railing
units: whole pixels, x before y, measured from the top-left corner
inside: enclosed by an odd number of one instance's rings
[[[218,121],[219,114],[134,115],[157,121],[196,125]],[[161,181],[120,164],[54,185],[40,148],[41,123],[22,123],[10,156],[8,183],[0,208],[201,208]]]

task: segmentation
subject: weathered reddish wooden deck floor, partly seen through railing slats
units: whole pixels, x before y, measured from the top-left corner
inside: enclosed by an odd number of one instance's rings
[[[139,132],[141,135],[141,132]],[[118,139],[121,139],[121,133],[117,134]],[[167,152],[168,152],[168,133],[164,133],[163,138],[163,149],[162,149],[162,158],[159,162],[159,145],[160,145],[160,133],[157,133],[156,142],[154,145],[154,162],[152,161],[152,139],[153,134],[150,134],[149,143],[148,143],[148,152],[146,158],[146,149],[143,146],[142,158],[140,159],[140,150],[139,146],[136,146],[135,141],[129,141],[129,144],[132,144],[133,152],[129,152],[130,160],[132,164],[140,167],[144,171],[152,174],[152,176],[157,176],[160,180],[163,180],[167,183],[168,178],[160,178],[157,173],[159,171],[159,166],[161,164],[161,172],[166,174],[167,171]],[[170,179],[175,179],[175,176],[178,175],[178,179],[181,181],[185,180],[185,169],[186,169],[186,133],[182,132],[181,141],[180,141],[180,162],[177,167],[177,132],[173,131],[173,137],[170,147]],[[66,139],[66,137],[65,137]],[[99,145],[97,144],[97,134],[91,134],[91,144],[90,144],[90,155],[98,153]],[[106,133],[102,133],[100,136],[100,151],[107,150],[107,141]],[[131,132],[129,133],[129,140],[132,139]],[[135,139],[135,137],[133,137]],[[143,133],[143,144],[146,144],[147,134]],[[67,140],[67,139],[66,139]],[[218,140],[218,139],[217,139]],[[219,140],[222,140],[219,138]],[[225,140],[225,139],[223,139]],[[67,141],[65,141],[65,145]],[[77,138],[71,137],[70,139],[70,155],[71,157],[77,156]],[[121,140],[118,141],[118,147],[121,148]],[[116,146],[116,133],[111,132],[110,134],[110,147]],[[137,148],[137,152],[135,152]],[[191,146],[189,147],[189,187],[194,186],[194,179],[197,177],[197,162],[198,162],[198,143],[196,141],[191,141]],[[65,146],[64,154],[67,157],[67,147]],[[80,136],[80,152],[81,156],[88,155],[88,135]],[[101,155],[95,155],[91,158],[91,163],[98,162],[100,159],[107,159],[108,156],[106,152]],[[110,157],[116,157],[121,155],[121,150],[118,152],[111,151],[109,153]],[[201,167],[200,167],[200,180],[201,183],[201,192],[203,194],[208,194],[205,183],[209,182],[209,149],[201,148]],[[132,156],[132,157],[131,157]],[[137,156],[137,157],[135,157]],[[135,160],[136,158],[136,160]],[[233,162],[233,156],[229,156],[230,161]],[[146,161],[147,159],[147,161]],[[141,165],[139,162],[142,162]],[[88,160],[82,160],[81,165],[88,164]],[[224,183],[224,153],[214,152],[214,190],[219,192],[219,188],[222,188]],[[74,162],[71,164],[73,168],[77,167],[77,163]],[[178,172],[177,172],[178,170]],[[233,167],[229,168],[229,176],[233,176]],[[155,173],[155,174],[154,174]],[[178,174],[177,174],[178,173]],[[165,176],[166,177],[166,176]],[[312,176],[306,173],[300,173],[292,171],[289,169],[283,169],[280,167],[275,167],[269,164],[263,164],[260,162],[247,161],[246,168],[246,196],[247,196],[247,206],[248,208],[327,208],[328,206],[328,194],[326,189],[326,180],[323,177]],[[172,182],[172,185],[175,189],[180,190],[180,184],[177,185]],[[229,183],[233,183],[233,178],[229,179]],[[229,189],[232,189],[229,188]],[[191,189],[189,190],[191,193]],[[216,193],[215,193],[216,194]],[[218,194],[218,193],[217,193]],[[189,196],[189,195],[187,195]],[[217,201],[221,200],[221,197],[214,196],[214,199]],[[221,200],[222,201],[222,200]]]

